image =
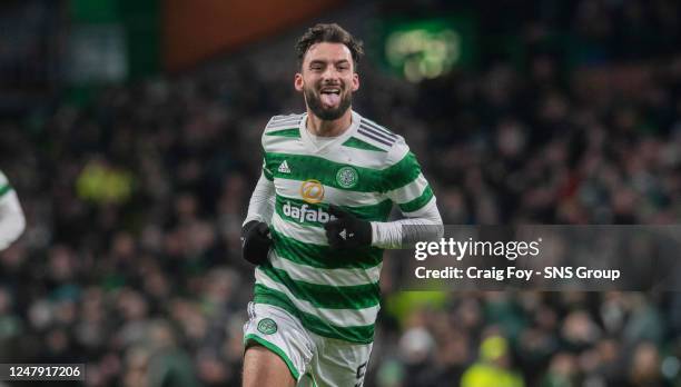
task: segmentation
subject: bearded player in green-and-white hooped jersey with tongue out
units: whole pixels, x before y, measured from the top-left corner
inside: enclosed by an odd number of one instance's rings
[[[257,265],[244,386],[362,386],[383,249],[436,237],[442,219],[404,139],[352,110],[362,43],[317,24],[296,49],[307,111],[267,123],[244,221]],[[387,221],[393,205],[406,219]]]

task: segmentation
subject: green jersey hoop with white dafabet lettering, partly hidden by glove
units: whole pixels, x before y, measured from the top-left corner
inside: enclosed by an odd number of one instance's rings
[[[276,198],[275,210],[282,219],[304,226],[324,227],[324,217],[328,216],[328,205],[308,204],[305,200],[286,198],[279,195]],[[339,207],[367,221],[386,221],[393,209],[393,202],[386,199],[373,206]],[[320,215],[319,210],[324,211],[325,215]],[[322,221],[319,217],[323,218]]]

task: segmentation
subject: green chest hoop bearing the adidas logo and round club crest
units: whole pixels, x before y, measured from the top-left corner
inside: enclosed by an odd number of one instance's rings
[[[339,163],[317,156],[265,152],[266,167],[274,177],[305,181],[319,180],[324,186],[359,192],[386,192],[402,188],[421,173],[421,167],[414,153],[408,152],[394,166],[378,170],[355,165]],[[277,168],[286,161],[289,171],[279,172]],[[353,167],[358,175],[357,183],[352,188],[338,183],[336,175],[344,167]]]

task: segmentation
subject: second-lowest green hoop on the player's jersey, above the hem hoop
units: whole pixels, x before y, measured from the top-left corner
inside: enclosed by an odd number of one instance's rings
[[[308,301],[317,308],[364,309],[378,305],[381,298],[378,282],[336,287],[294,280],[285,270],[270,265],[260,265],[258,270],[284,285],[297,299]]]

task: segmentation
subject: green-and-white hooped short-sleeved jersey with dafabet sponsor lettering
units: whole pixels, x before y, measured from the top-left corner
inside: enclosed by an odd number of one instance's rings
[[[319,147],[306,120],[306,113],[275,116],[263,133],[263,172],[276,201],[274,248],[256,269],[255,302],[288,310],[319,336],[372,343],[383,250],[330,249],[328,205],[386,221],[393,205],[418,216],[433,191],[401,136],[353,112],[351,128]]]

